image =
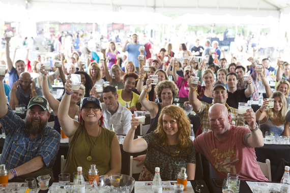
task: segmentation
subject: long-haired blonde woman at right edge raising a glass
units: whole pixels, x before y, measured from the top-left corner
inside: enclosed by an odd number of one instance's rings
[[[267,108],[269,101],[264,100],[263,105],[256,111],[256,119],[259,121],[260,130],[265,136],[266,132],[271,132],[274,136],[289,137],[289,122],[286,122],[287,114],[286,99],[282,92],[273,92],[270,99],[274,99],[274,107]]]

